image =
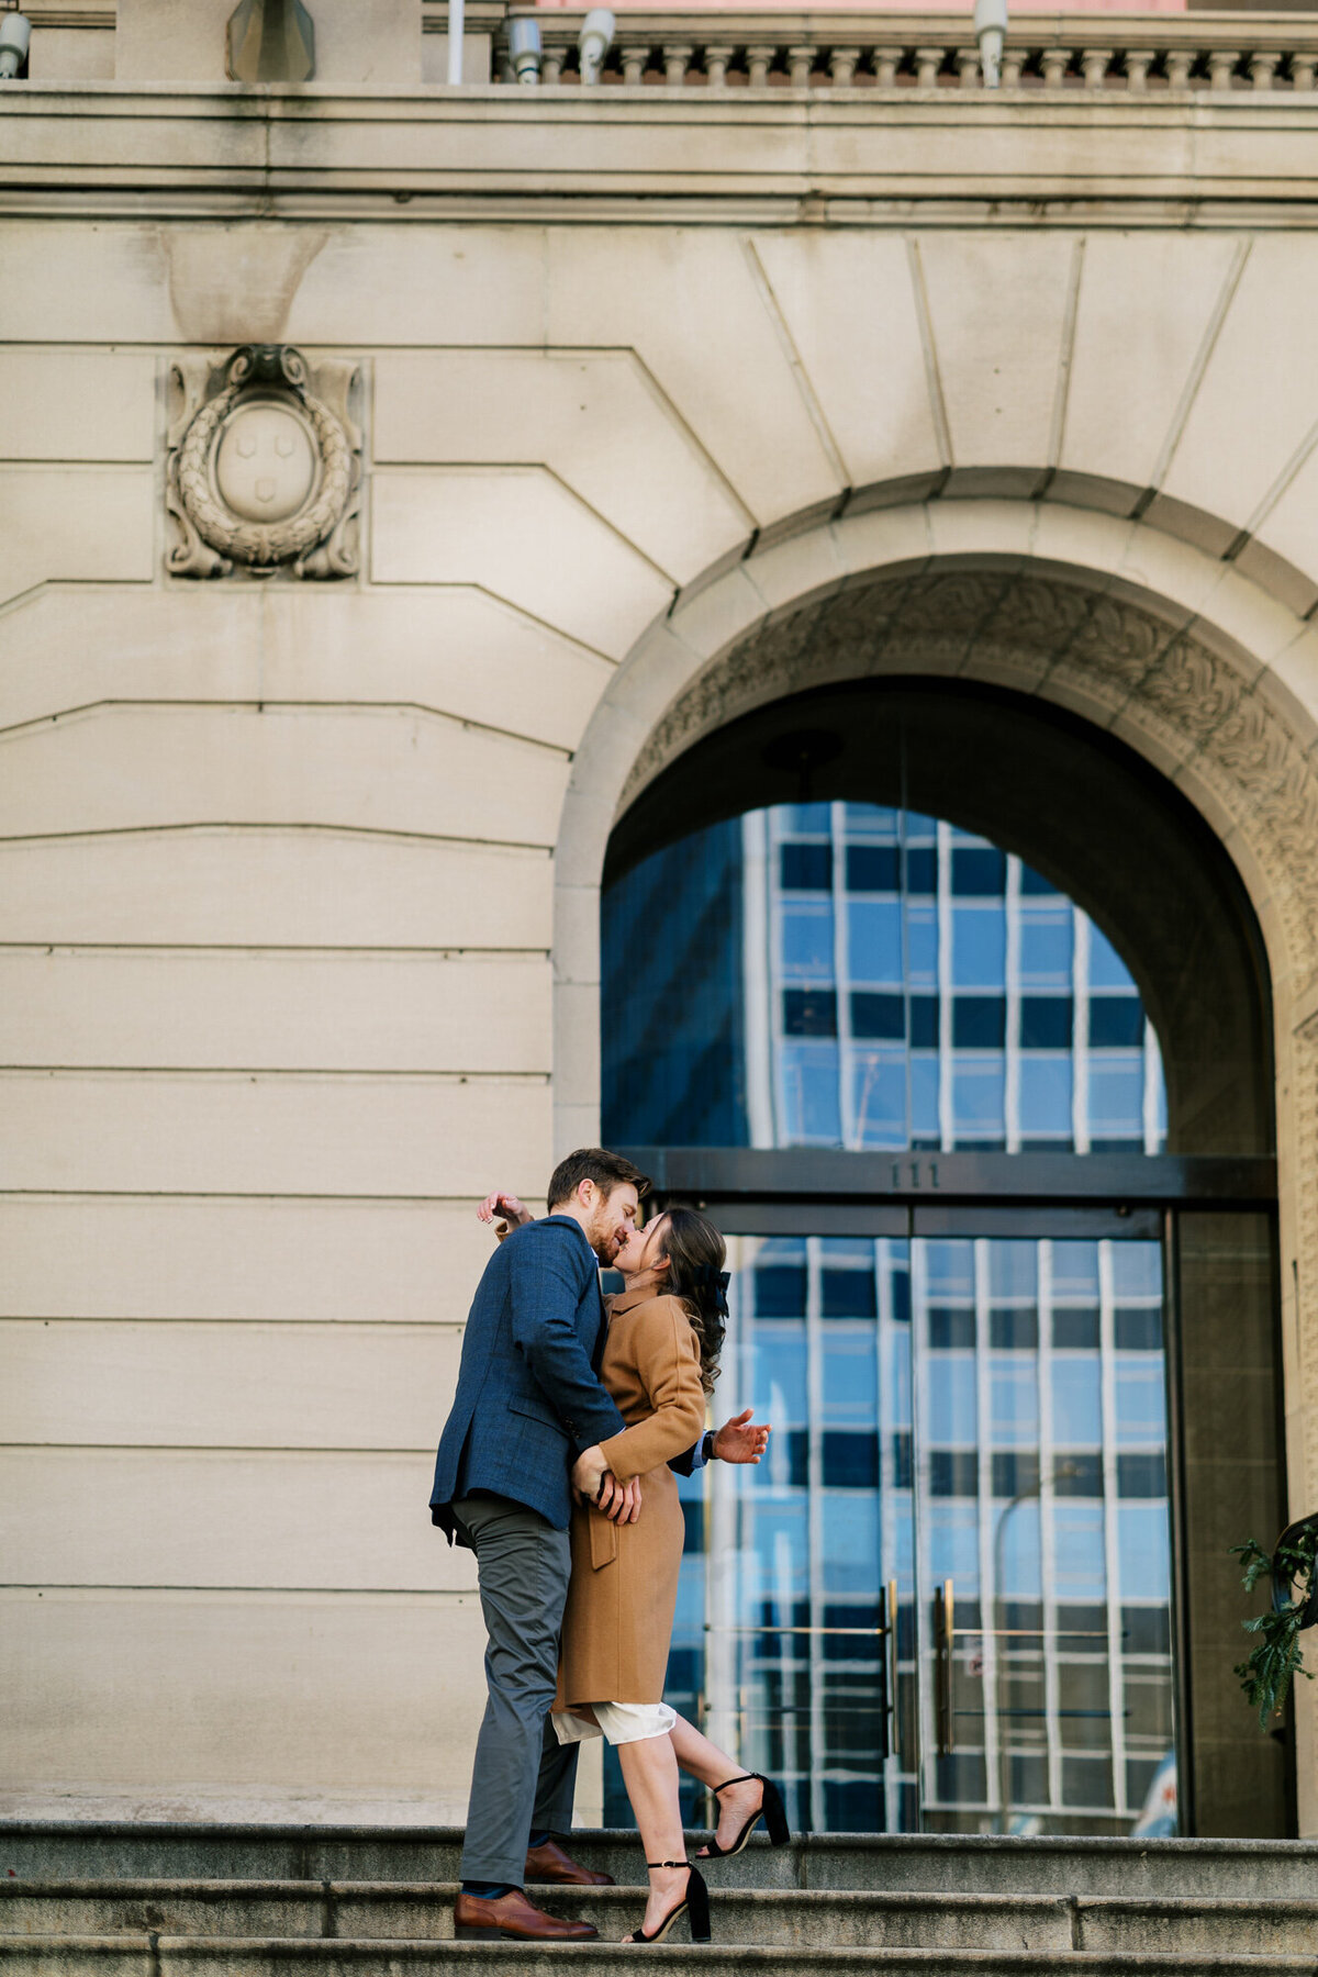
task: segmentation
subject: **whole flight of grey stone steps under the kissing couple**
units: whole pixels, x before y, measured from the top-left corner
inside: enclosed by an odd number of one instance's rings
[[[599,1943],[454,1943],[451,1827],[0,1823],[6,1977],[409,1977],[617,1971],[642,1912],[640,1848],[579,1833],[617,1888],[543,1890]],[[696,1845],[696,1843],[694,1843]],[[1312,1973],[1318,1847],[818,1835],[709,1870],[715,1941],[676,1934],[670,1973],[947,1977]],[[684,1926],[680,1926],[686,1935]]]

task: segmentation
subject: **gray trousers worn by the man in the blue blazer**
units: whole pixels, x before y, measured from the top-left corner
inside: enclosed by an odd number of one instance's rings
[[[559,1744],[549,1722],[571,1548],[565,1530],[508,1497],[464,1497],[453,1516],[476,1554],[488,1690],[460,1874],[520,1888],[530,1835],[567,1833],[573,1817],[577,1746]]]

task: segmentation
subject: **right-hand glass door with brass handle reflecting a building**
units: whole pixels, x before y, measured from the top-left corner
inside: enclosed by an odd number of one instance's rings
[[[911,1246],[927,1831],[1174,1831],[1162,1242],[1079,1228]]]

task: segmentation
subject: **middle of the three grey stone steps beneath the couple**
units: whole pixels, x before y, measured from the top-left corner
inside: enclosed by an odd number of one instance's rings
[[[0,1880],[0,1949],[30,1937],[287,1937],[445,1941],[456,1882]],[[719,1943],[790,1949],[1033,1951],[1067,1955],[1318,1957],[1318,1898],[1037,1898],[721,1888]],[[640,1888],[555,1888],[543,1902],[618,1941],[644,1910]]]

